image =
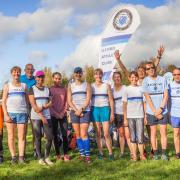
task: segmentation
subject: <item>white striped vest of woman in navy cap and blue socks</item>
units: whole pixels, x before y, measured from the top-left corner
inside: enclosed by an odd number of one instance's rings
[[[84,102],[86,101],[87,96],[87,83],[83,82],[80,85],[77,85],[75,82],[71,84],[71,92],[72,92],[72,102],[78,108],[82,108]],[[85,109],[85,111],[90,111],[89,106]]]

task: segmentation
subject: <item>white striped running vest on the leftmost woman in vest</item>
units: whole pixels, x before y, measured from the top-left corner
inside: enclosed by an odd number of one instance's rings
[[[9,113],[27,113],[26,84],[21,83],[20,87],[8,83],[7,111]]]

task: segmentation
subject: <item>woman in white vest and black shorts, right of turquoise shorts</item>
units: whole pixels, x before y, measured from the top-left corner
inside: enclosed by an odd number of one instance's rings
[[[124,154],[124,146],[125,146],[125,138],[130,150],[131,150],[131,142],[130,142],[130,133],[129,128],[127,126],[124,126],[124,115],[123,115],[123,102],[122,102],[122,96],[125,91],[125,86],[121,84],[122,76],[120,72],[114,72],[113,73],[113,81],[114,81],[114,87],[112,89],[113,97],[114,97],[114,124],[116,128],[118,129],[119,133],[119,144],[120,144],[120,156],[122,157]],[[132,153],[131,153],[132,154]]]

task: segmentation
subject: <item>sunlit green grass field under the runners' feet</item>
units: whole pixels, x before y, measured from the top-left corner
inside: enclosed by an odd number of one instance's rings
[[[4,133],[5,162],[0,166],[0,179],[180,179],[180,160],[174,158],[174,147],[171,128],[168,130],[168,154],[170,161],[162,160],[146,162],[131,162],[129,156],[124,159],[118,157],[119,151],[114,149],[115,160],[97,160],[95,152],[92,154],[92,163],[87,165],[79,162],[78,153],[70,152],[71,162],[55,162],[54,152],[52,167],[44,167],[32,157],[30,130],[27,136],[27,164],[11,165],[10,154],[7,148],[6,132]],[[107,152],[106,152],[107,153]]]

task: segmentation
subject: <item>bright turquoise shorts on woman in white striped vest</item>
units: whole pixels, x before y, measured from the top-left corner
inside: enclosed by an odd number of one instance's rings
[[[110,119],[110,108],[109,106],[104,107],[92,107],[91,109],[91,120],[92,122],[106,122]]]

